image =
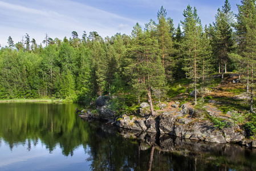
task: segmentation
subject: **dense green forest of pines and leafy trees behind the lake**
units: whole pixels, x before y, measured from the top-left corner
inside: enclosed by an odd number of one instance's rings
[[[0,50],[0,99],[50,98],[90,104],[100,95],[136,101],[145,97],[151,105],[168,97],[169,87],[187,79],[195,93],[194,104],[204,99],[212,75],[236,72],[250,94],[253,112],[256,70],[256,6],[242,0],[238,14],[226,0],[216,21],[202,26],[196,7],[187,6],[177,26],[164,7],[157,21],[133,27],[131,36],[117,33],[101,38],[96,31],[76,31],[68,39],[47,34],[36,43],[26,33],[21,42]],[[241,77],[240,77],[241,76]],[[125,104],[129,105],[129,104]]]

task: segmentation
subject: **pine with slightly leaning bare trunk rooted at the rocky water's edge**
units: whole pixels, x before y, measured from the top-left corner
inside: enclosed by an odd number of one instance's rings
[[[132,47],[128,51],[132,62],[126,71],[131,75],[132,87],[142,88],[147,92],[151,114],[154,116],[151,90],[164,84],[164,68],[157,55],[157,40],[148,30],[142,31],[138,23],[133,27],[132,33]]]

